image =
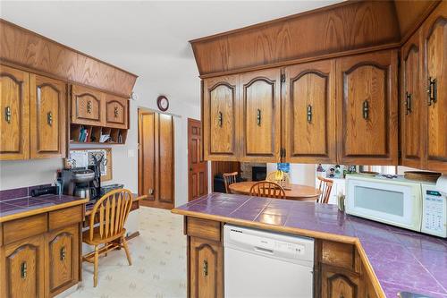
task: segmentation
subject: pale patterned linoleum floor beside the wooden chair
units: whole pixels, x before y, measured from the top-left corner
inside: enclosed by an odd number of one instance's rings
[[[183,217],[169,210],[139,209],[139,237],[129,241],[132,266],[124,251],[99,259],[98,285],[93,265],[82,265],[82,283],[70,298],[186,297],[186,237]]]

